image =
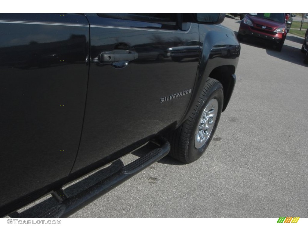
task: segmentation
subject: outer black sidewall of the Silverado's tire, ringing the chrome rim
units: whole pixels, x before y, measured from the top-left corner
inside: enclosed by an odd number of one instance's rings
[[[218,101],[218,110],[217,110],[217,117],[215,120],[215,124],[213,125],[213,129],[211,131],[210,137],[205,142],[205,144],[201,148],[195,148],[195,136],[196,136],[197,129],[199,128],[199,121],[201,120],[201,116],[202,116],[202,113],[206,105],[212,99],[217,99]],[[214,85],[214,87],[210,88],[210,90],[206,93],[202,101],[203,101],[203,103],[201,104],[202,106],[197,116],[194,118],[194,125],[193,125],[193,129],[191,132],[190,140],[189,140],[189,145],[188,145],[189,162],[193,162],[202,156],[206,148],[209,146],[209,143],[211,142],[213,135],[215,133],[215,130],[217,128],[217,125],[218,125],[218,122],[221,116],[222,106],[223,106],[223,90],[222,90],[220,83],[217,83]]]

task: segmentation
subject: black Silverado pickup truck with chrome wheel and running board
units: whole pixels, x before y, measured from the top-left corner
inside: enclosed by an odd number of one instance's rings
[[[68,217],[168,153],[197,160],[236,82],[240,45],[213,25],[224,17],[0,14],[0,217],[49,194],[56,204],[31,216]]]

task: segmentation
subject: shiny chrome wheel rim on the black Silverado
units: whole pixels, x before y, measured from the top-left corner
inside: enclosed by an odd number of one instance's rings
[[[195,148],[201,148],[209,139],[213,130],[218,111],[217,99],[211,99],[202,112],[195,134]]]

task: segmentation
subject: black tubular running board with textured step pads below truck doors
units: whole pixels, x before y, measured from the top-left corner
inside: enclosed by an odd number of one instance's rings
[[[62,189],[54,192],[52,195],[55,197],[55,199],[60,201],[60,203],[49,209],[47,212],[42,213],[39,218],[68,217],[84,206],[90,204],[95,199],[101,197],[105,193],[108,193],[111,189],[120,185],[132,176],[136,175],[138,172],[141,172],[143,169],[166,156],[170,151],[170,144],[168,141],[160,137],[154,142],[155,144],[159,145],[157,148],[148,153],[145,153],[137,160],[125,165],[118,172],[102,181],[99,181],[98,183],[85,189],[77,195],[73,197],[67,197]]]

